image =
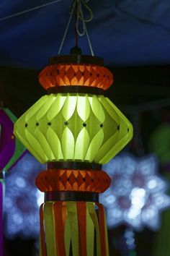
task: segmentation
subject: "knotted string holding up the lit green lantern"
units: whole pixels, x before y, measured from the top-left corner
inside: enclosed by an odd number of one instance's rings
[[[89,43],[89,48],[90,48],[90,51],[91,51],[91,55],[94,56],[94,51],[93,51],[92,46],[91,46],[91,40],[89,38],[89,33],[87,32],[87,28],[86,28],[86,22],[90,22],[93,19],[93,13],[92,13],[91,9],[89,8],[89,6],[87,5],[88,2],[89,2],[89,0],[73,0],[71,2],[71,7],[70,7],[70,10],[69,10],[70,17],[69,17],[69,20],[68,20],[68,24],[66,26],[66,30],[65,30],[64,35],[63,35],[63,39],[61,41],[61,46],[59,48],[58,55],[61,53],[61,49],[63,48],[63,43],[64,43],[64,41],[66,39],[66,35],[68,33],[68,27],[71,23],[71,19],[73,17],[73,12],[75,12],[75,17],[76,17],[76,22],[75,22],[75,45],[78,46],[78,35],[79,36],[86,35],[88,43]],[[89,17],[87,17],[87,18],[84,17],[82,7],[85,7],[86,10],[89,12]],[[80,22],[82,22],[82,31],[80,31],[80,29],[79,29]]]

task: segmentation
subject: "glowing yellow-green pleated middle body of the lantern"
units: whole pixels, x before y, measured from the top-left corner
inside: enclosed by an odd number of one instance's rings
[[[37,101],[18,119],[14,133],[42,163],[102,164],[129,142],[133,128],[103,95],[58,93]]]

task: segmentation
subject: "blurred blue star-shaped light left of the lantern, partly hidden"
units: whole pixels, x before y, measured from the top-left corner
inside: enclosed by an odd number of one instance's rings
[[[7,238],[39,236],[39,207],[44,198],[35,187],[35,176],[44,167],[27,152],[6,175],[4,234]]]

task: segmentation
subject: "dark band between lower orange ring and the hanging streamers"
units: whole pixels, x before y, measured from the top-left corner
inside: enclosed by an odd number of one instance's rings
[[[99,193],[73,191],[45,192],[45,202],[46,201],[99,202]]]

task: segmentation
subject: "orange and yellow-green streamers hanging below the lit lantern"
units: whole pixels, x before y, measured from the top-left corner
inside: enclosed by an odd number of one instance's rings
[[[98,202],[42,204],[40,255],[109,256],[103,206]]]

